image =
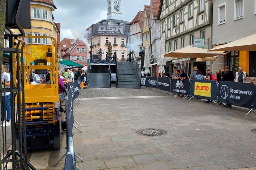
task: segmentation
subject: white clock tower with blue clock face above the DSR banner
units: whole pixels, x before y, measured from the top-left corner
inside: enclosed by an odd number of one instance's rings
[[[121,2],[122,0],[107,0],[108,20],[122,20]]]

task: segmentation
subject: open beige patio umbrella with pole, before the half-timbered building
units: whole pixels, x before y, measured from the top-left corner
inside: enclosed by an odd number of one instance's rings
[[[171,51],[169,53],[164,54],[165,57],[188,58],[188,66],[189,66],[189,58],[206,58],[206,57],[213,57],[216,55],[224,55],[224,53],[220,53],[218,51],[209,52],[207,51],[207,49],[192,47],[190,45],[184,48],[178,49],[176,51]]]

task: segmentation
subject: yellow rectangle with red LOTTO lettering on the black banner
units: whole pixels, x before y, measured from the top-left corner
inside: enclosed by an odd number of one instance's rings
[[[211,83],[195,82],[194,94],[198,96],[211,97]]]

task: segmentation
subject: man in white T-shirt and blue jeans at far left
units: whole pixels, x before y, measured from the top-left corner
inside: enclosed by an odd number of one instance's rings
[[[2,88],[10,88],[10,74],[5,72],[5,67],[2,65],[2,71],[1,71],[1,83],[2,83]],[[11,120],[11,93],[6,92],[2,93],[2,113],[1,113],[1,127],[2,126],[10,126],[10,120]],[[7,115],[6,115],[7,112]],[[4,122],[4,120],[6,121]]]

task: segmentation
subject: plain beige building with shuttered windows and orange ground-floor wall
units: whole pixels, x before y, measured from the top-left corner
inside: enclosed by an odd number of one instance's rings
[[[213,4],[212,43],[229,43],[256,34],[256,0],[218,0]],[[242,66],[250,77],[256,77],[256,51],[226,51],[213,61],[212,70],[230,66],[233,73]]]

